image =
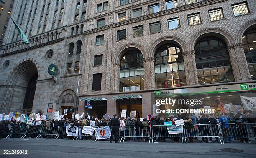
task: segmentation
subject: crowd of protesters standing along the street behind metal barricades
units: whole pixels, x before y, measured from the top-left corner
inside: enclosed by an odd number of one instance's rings
[[[194,140],[201,139],[201,143],[214,142],[219,143],[218,133],[220,132],[224,136],[225,143],[233,143],[234,140],[239,140],[240,143],[250,143],[248,138],[247,130],[251,127],[247,127],[244,123],[255,123],[255,119],[248,121],[246,115],[238,113],[233,115],[233,113],[221,114],[217,117],[214,114],[202,113],[197,117],[195,114],[187,115],[182,117],[180,114],[171,117],[150,117],[149,119],[143,118],[131,118],[127,116],[126,118],[120,117],[119,135],[124,137],[124,141],[148,141],[149,138],[153,138],[153,142],[158,141],[165,142],[167,138],[178,143],[182,140],[182,134],[172,134],[169,135],[167,128],[164,126],[165,122],[172,122],[175,125],[175,120],[184,120],[185,128],[184,132],[187,135],[187,140],[189,143],[193,143]],[[70,118],[62,118],[61,120],[51,120],[46,119],[41,121],[41,126],[78,126],[79,127],[79,139],[81,140],[92,140],[92,135],[81,135],[81,130],[83,126],[90,126],[90,122],[95,121],[95,127],[101,126],[111,126],[111,121],[105,118],[83,118],[80,120],[73,120]],[[253,121],[253,122],[252,122]],[[33,120],[30,125],[36,126],[36,120]],[[24,122],[19,122],[16,120],[2,121],[0,123],[0,138],[2,137],[3,130],[10,130],[11,127],[25,128],[28,126]],[[136,127],[140,126],[140,127]],[[159,127],[158,127],[159,126]],[[152,130],[150,128],[152,127]],[[256,137],[256,126],[252,128],[254,137]],[[226,136],[226,137],[225,137]],[[239,137],[240,136],[240,137]],[[43,138],[53,138],[51,135],[44,136]],[[68,139],[67,136],[61,135],[59,138]],[[157,139],[156,139],[157,138]],[[215,141],[213,141],[215,138]]]

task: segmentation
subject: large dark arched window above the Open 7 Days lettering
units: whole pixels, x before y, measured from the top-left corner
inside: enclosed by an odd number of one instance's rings
[[[203,38],[196,43],[194,50],[200,85],[235,81],[227,45],[223,40]]]

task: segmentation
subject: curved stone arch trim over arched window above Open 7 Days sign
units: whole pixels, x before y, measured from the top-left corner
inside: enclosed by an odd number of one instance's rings
[[[195,44],[202,38],[206,36],[215,36],[218,37],[227,44],[227,46],[233,44],[235,42],[232,35],[230,35],[225,30],[219,29],[219,28],[208,28],[203,29],[198,32],[196,32],[192,37],[189,39],[188,43],[188,50],[194,50]]]

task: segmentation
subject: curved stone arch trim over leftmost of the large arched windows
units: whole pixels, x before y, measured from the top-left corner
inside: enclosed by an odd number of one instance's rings
[[[146,58],[146,50],[143,48],[142,45],[139,45],[137,43],[129,43],[127,45],[123,45],[121,48],[119,48],[115,54],[114,54],[114,62],[113,63],[120,63],[120,60],[122,58],[122,56],[126,53],[124,50],[128,49],[128,48],[136,48],[138,50],[141,51],[143,58]]]

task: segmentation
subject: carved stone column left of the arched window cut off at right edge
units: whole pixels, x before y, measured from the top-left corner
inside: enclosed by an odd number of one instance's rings
[[[235,81],[251,80],[246,56],[243,50],[243,43],[229,45],[228,53],[230,56]]]

